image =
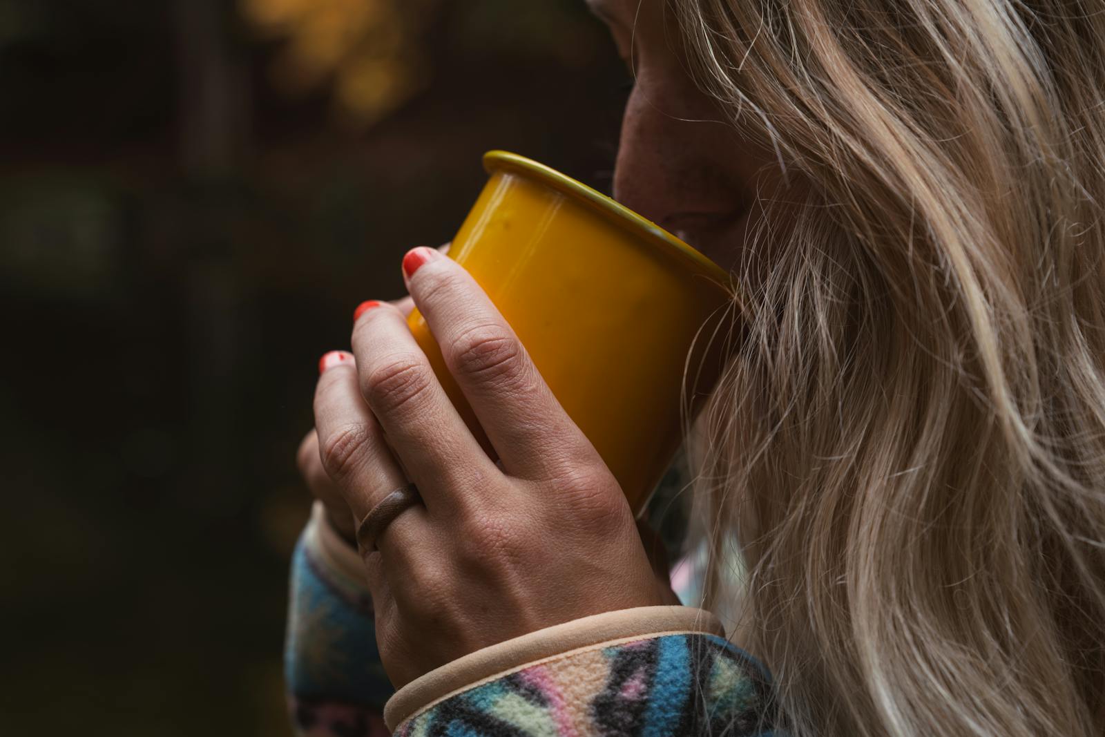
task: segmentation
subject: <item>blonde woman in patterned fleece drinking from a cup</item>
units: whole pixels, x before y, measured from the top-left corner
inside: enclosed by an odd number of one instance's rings
[[[424,502],[350,561],[390,726],[1105,734],[1101,3],[592,4],[638,80],[618,198],[745,288],[688,439],[702,604],[743,650],[655,608],[671,594],[593,449],[478,287],[419,249],[409,291],[502,467],[393,305],[327,359],[303,454],[337,509],[308,541],[410,481]],[[303,587],[294,611],[322,611]],[[326,702],[295,680],[323,651],[297,642],[293,688]],[[330,693],[368,704],[365,678]]]

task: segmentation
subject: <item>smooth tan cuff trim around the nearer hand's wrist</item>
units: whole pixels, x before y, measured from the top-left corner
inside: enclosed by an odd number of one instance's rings
[[[724,636],[716,617],[692,607],[639,607],[583,617],[469,653],[419,676],[383,707],[388,729],[456,694],[545,661],[669,634]]]

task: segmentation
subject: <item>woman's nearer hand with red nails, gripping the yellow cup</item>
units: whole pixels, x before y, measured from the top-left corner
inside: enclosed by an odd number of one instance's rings
[[[613,475],[514,331],[459,264],[403,261],[408,289],[499,455],[450,403],[403,314],[381,303],[315,393],[323,466],[364,517],[417,484],[361,549],[385,668],[398,687],[461,655],[579,617],[670,604]]]

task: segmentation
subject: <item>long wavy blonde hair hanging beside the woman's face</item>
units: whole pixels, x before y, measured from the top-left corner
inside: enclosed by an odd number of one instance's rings
[[[796,736],[1105,734],[1105,7],[669,1],[792,183],[699,418],[707,607]]]

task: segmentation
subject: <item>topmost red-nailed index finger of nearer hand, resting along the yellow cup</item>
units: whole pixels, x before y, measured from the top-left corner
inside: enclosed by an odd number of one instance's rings
[[[408,289],[503,467],[522,477],[555,477],[593,462],[594,448],[475,280],[425,248],[409,252],[403,269]]]

